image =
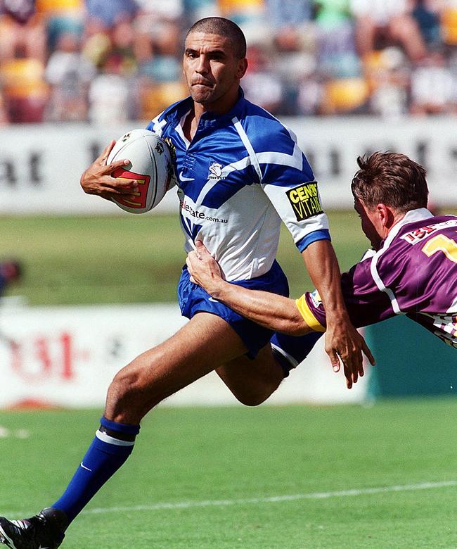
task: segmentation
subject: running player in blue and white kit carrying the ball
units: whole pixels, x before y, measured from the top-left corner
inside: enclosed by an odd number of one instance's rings
[[[361,351],[371,353],[349,322],[317,183],[295,136],[243,97],[245,53],[243,32],[231,21],[195,23],[184,51],[191,96],[149,126],[175,153],[186,250],[201,240],[233,284],[286,296],[287,279],[275,260],[284,220],[326,306],[330,359],[337,367],[340,356],[352,384],[363,374]],[[82,175],[86,193],[110,199],[134,192],[135,182],[111,177],[129,161],[107,166],[111,147]],[[281,383],[287,372],[273,355],[271,330],[215,301],[186,269],[179,303],[190,321],[116,375],[101,426],[63,496],[31,519],[0,519],[0,543],[58,547],[68,524],[127,460],[143,416],[208,372],[216,370],[247,405],[262,403]]]

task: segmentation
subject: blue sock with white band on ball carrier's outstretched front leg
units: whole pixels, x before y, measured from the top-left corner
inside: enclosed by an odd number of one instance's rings
[[[94,441],[63,496],[51,505],[65,512],[68,524],[127,460],[140,431],[139,425],[111,422],[105,417],[100,423]]]

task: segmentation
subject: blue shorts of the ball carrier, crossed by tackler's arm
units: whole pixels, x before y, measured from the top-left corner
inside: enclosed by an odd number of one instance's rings
[[[193,284],[190,281],[190,277],[187,267],[183,267],[178,284],[178,301],[181,314],[184,317],[192,318],[196,313],[204,311],[205,313],[212,313],[221,317],[231,325],[243,340],[243,343],[245,343],[248,350],[246,355],[249,358],[255,358],[260,349],[266,346],[266,343],[269,343],[273,331],[238,315],[238,313],[235,313],[235,311],[224,305],[224,303],[220,303],[220,301],[212,298],[198,284]],[[271,291],[273,294],[289,296],[287,278],[276,261],[269,272],[262,274],[262,276],[249,280],[238,280],[233,282],[233,284],[252,290]]]

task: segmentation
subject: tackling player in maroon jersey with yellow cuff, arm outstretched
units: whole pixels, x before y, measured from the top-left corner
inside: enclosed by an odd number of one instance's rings
[[[354,206],[373,249],[342,274],[352,322],[361,327],[406,315],[457,349],[457,216],[427,210],[425,170],[410,158],[373,153],[358,162]],[[193,279],[212,296],[282,332],[276,337],[292,367],[315,341],[300,334],[326,329],[326,310],[316,291],[294,301],[240,289],[222,279],[219,265],[200,242],[187,263]]]

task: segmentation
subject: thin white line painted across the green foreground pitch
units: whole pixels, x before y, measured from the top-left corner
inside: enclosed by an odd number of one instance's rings
[[[134,512],[134,511],[161,511],[173,509],[192,509],[198,507],[228,507],[230,505],[259,505],[262,503],[284,503],[297,500],[325,500],[330,498],[345,498],[357,496],[371,496],[378,493],[411,492],[416,490],[434,490],[457,486],[457,480],[423,482],[420,484],[397,484],[394,486],[377,486],[374,488],[354,488],[352,490],[338,490],[334,492],[296,493],[284,496],[268,496],[266,498],[239,498],[231,500],[200,500],[176,501],[174,503],[151,503],[150,505],[125,505],[120,507],[96,507],[82,511],[82,515],[103,515],[105,513]],[[34,512],[37,512],[36,510]],[[1,516],[24,517],[34,512],[1,512]]]

